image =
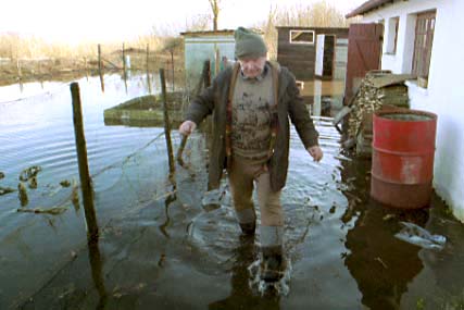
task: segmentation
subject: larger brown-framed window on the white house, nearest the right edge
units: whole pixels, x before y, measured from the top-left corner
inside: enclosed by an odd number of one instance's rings
[[[412,73],[427,80],[434,42],[436,11],[417,14]],[[424,85],[426,86],[426,85]]]

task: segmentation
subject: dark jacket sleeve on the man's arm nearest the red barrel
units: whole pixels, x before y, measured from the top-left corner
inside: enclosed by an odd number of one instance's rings
[[[288,72],[288,71],[287,71]],[[287,86],[288,97],[288,113],[290,115],[291,123],[297,128],[297,133],[300,136],[304,148],[313,147],[318,145],[318,133],[314,127],[313,120],[311,120],[310,113],[304,106],[303,98],[298,89],[294,76],[288,72],[289,80]]]

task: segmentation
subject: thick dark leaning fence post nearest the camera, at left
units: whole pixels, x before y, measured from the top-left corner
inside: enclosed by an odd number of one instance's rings
[[[80,189],[83,191],[84,213],[87,223],[87,236],[98,237],[97,214],[93,206],[93,191],[87,161],[86,137],[84,135],[83,109],[80,104],[80,91],[77,83],[71,84],[71,95],[73,98],[73,122],[74,135],[76,138],[77,163],[79,166]]]

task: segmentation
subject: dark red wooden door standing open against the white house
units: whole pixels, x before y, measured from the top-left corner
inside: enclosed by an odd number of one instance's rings
[[[380,69],[383,36],[383,24],[350,25],[344,104],[350,102],[364,75]]]

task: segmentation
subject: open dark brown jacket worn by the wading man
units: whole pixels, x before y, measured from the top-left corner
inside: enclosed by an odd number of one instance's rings
[[[278,64],[273,64],[277,65]],[[225,169],[226,148],[226,107],[233,69],[222,71],[213,84],[193,99],[186,114],[186,120],[199,125],[206,115],[213,113],[213,136],[210,150],[209,178],[210,188],[217,188]],[[278,66],[278,132],[274,154],[269,159],[271,186],[280,190],[287,179],[288,154],[290,144],[289,119],[297,128],[305,148],[317,145],[318,134],[304,106],[294,76],[286,67]]]

